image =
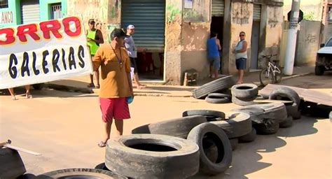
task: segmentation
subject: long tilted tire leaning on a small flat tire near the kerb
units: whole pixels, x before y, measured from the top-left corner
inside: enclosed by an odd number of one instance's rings
[[[210,93],[219,92],[223,90],[227,90],[235,84],[235,80],[233,76],[226,76],[223,78],[219,78],[210,83],[202,85],[201,87],[193,90],[193,97],[195,99],[200,99],[207,96]]]

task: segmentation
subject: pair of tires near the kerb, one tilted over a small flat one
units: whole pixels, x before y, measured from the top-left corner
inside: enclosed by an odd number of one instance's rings
[[[193,90],[195,99],[205,99],[207,103],[230,103],[229,88],[235,84],[233,76],[213,80]]]

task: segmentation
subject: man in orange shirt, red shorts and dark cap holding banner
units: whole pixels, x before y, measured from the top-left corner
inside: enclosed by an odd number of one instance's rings
[[[98,48],[92,59],[93,69],[102,66],[102,83],[99,92],[102,120],[105,122],[105,136],[98,144],[103,148],[110,138],[111,124],[114,119],[118,136],[123,134],[123,120],[130,118],[127,97],[134,97],[130,77],[130,59],[123,48],[125,32],[114,29],[111,43]]]

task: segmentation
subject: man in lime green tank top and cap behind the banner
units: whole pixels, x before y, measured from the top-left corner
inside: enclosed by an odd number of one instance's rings
[[[88,21],[89,29],[87,31],[86,37],[88,41],[88,47],[90,48],[91,59],[95,56],[97,49],[101,43],[104,43],[104,38],[102,36],[102,31],[95,28],[95,20],[90,19]],[[93,83],[93,74],[90,75],[90,84],[88,87],[96,87],[99,88],[99,69],[94,71],[95,77],[97,80],[97,85]]]

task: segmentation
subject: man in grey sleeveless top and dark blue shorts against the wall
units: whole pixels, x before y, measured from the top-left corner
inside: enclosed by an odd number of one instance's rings
[[[248,43],[245,39],[246,39],[246,33],[244,31],[241,31],[240,41],[236,44],[234,50],[236,69],[239,74],[239,78],[237,79],[237,84],[243,83],[244,69],[246,69],[246,64],[247,64]]]

